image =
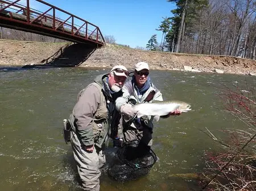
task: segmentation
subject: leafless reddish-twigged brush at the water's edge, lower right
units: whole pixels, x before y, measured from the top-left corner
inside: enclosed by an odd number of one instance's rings
[[[210,190],[256,189],[256,97],[249,84],[234,88],[221,88],[219,96],[227,112],[245,125],[243,129],[225,129],[228,141],[217,138],[207,129],[207,134],[220,143],[224,150],[208,154],[205,170],[205,188]]]

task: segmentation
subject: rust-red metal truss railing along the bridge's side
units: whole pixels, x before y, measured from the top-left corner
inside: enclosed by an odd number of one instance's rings
[[[44,5],[43,7],[46,8],[44,12],[32,9],[30,7],[31,0],[26,0],[26,3],[23,4],[24,1],[20,1],[22,0],[0,0],[0,14],[9,19],[26,22],[31,26],[47,28],[102,45],[105,44],[100,28],[96,25],[41,0],[35,1]],[[60,16],[56,15],[61,15],[65,19],[60,19]]]

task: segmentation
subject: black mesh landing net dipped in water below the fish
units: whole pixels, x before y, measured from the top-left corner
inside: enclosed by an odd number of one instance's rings
[[[117,150],[108,174],[119,182],[138,179],[150,172],[156,159],[155,152],[149,146],[138,141],[126,142]]]

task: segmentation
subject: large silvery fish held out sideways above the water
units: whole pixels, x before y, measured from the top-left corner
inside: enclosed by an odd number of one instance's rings
[[[137,117],[147,116],[165,116],[170,112],[179,109],[181,112],[191,111],[191,105],[184,101],[159,101],[157,103],[142,103],[133,106],[137,111]]]

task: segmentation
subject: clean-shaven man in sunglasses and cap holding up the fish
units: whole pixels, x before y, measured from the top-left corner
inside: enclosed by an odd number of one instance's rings
[[[115,107],[123,116],[123,139],[125,143],[135,142],[137,152],[134,158],[141,157],[152,146],[152,128],[153,122],[159,120],[159,116],[143,116],[136,118],[136,111],[132,105],[137,103],[152,102],[154,100],[163,101],[161,92],[151,82],[150,69],[146,62],[138,62],[135,65],[134,75],[131,82],[126,82],[123,86],[123,95],[115,101]],[[168,114],[180,114],[180,111],[175,111]],[[133,156],[131,156],[131,159]]]

